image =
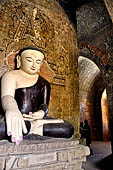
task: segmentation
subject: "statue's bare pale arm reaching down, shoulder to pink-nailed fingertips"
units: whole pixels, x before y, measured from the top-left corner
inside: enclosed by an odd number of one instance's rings
[[[19,144],[23,137],[22,131],[27,133],[27,129],[14,99],[15,88],[15,75],[12,72],[7,72],[1,81],[1,101],[5,112],[7,134],[8,136],[12,135],[12,142]]]

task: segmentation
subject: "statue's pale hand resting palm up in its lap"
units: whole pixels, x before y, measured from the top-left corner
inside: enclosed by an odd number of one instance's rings
[[[34,121],[44,117],[44,111],[39,110],[37,112],[29,112],[29,115],[23,114],[24,120]]]

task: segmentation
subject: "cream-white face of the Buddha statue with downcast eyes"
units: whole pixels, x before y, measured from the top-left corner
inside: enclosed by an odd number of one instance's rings
[[[20,69],[30,75],[34,75],[40,70],[43,59],[44,55],[40,51],[25,50],[21,54]]]

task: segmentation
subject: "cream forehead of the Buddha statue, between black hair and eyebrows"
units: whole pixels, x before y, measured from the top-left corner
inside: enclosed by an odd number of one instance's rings
[[[21,54],[21,57],[32,57],[36,59],[44,59],[44,55],[42,52],[38,50],[24,50]]]

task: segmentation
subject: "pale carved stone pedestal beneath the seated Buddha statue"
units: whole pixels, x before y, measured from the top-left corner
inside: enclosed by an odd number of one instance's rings
[[[82,170],[89,148],[78,140],[0,142],[0,170]]]

